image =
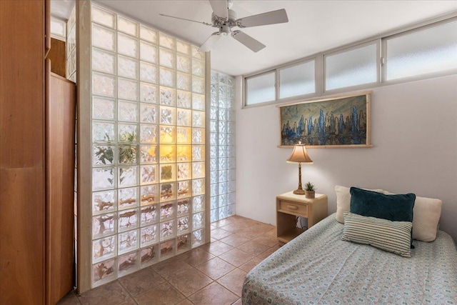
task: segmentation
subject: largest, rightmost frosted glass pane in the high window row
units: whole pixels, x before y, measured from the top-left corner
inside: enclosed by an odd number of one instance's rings
[[[386,79],[457,69],[457,22],[386,40]]]

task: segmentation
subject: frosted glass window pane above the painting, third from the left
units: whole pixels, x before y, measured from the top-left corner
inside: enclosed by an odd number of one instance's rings
[[[326,90],[377,81],[376,44],[325,56]]]

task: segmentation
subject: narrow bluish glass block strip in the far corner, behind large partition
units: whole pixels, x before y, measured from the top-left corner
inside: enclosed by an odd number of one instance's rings
[[[235,214],[235,78],[211,71],[211,222]]]

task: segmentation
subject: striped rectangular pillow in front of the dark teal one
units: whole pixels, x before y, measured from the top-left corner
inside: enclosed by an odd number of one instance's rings
[[[390,221],[345,211],[341,239],[411,257],[412,226],[410,221]]]

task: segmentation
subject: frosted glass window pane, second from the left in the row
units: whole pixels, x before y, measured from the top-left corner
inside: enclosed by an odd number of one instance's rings
[[[279,70],[279,98],[316,92],[314,61]]]

